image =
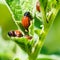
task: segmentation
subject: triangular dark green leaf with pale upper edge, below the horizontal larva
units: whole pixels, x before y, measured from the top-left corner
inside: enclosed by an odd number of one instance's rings
[[[32,40],[28,40],[25,37],[11,37],[11,39],[13,41],[15,41],[25,52],[27,52],[28,54],[31,53],[31,49],[32,49]],[[32,44],[31,44],[32,43]]]

